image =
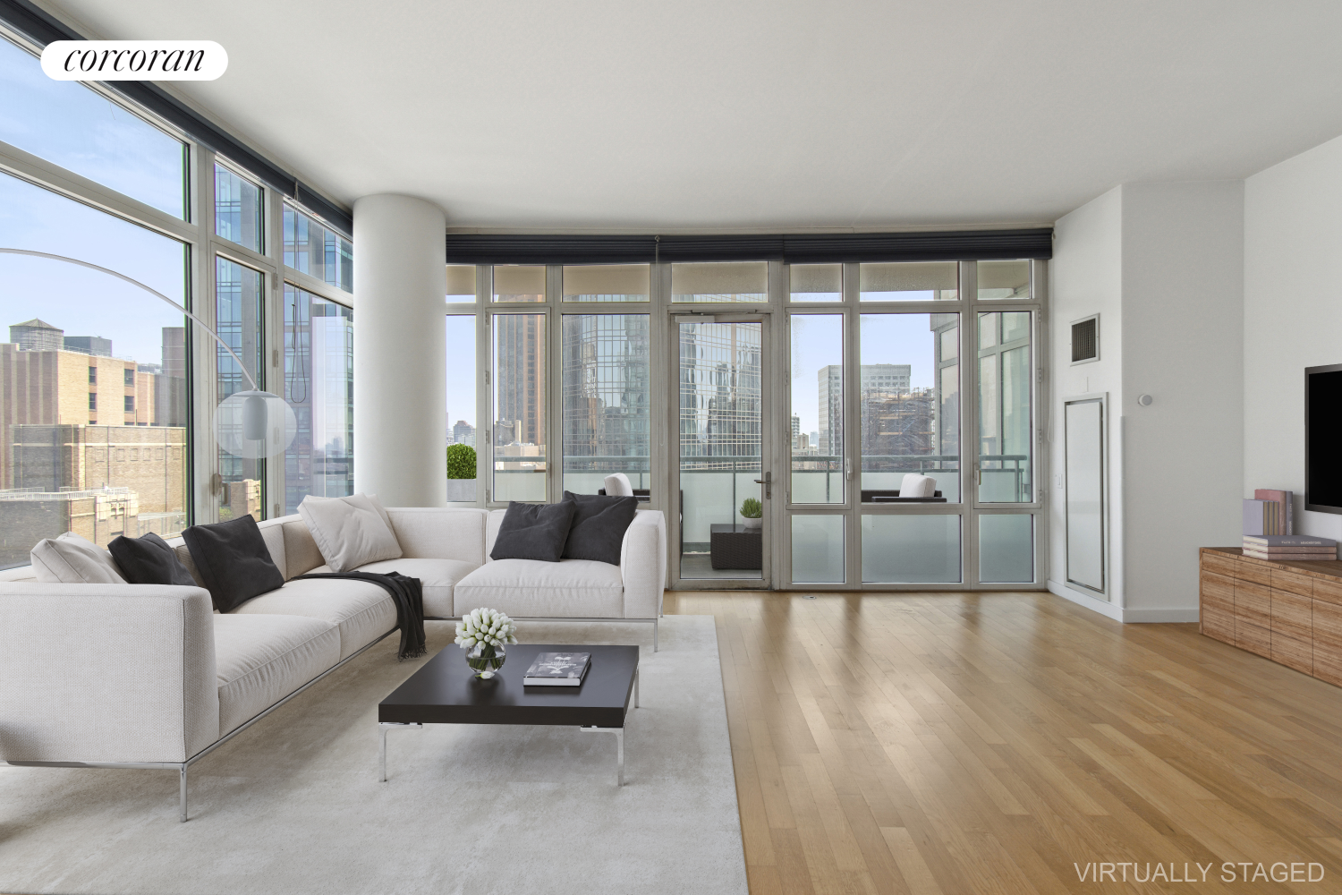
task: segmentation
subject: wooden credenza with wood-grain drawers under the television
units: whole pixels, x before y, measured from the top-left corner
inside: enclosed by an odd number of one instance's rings
[[[1342,686],[1342,561],[1272,562],[1202,547],[1208,637]]]

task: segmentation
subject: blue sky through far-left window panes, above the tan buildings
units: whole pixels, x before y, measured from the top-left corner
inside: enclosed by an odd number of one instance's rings
[[[0,39],[0,140],[181,215],[181,142],[76,82],[51,81],[38,59]],[[68,255],[183,301],[183,244],[0,174],[0,247]],[[89,301],[95,297],[97,301]],[[162,360],[162,327],[183,315],[106,274],[48,259],[0,255],[0,337],[42,318],[66,335],[111,339],[117,357]]]

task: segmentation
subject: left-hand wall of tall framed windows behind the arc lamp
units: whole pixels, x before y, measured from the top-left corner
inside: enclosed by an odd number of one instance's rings
[[[106,267],[204,326],[105,272],[0,255],[0,565],[66,530],[173,535],[348,492],[349,236],[102,86],[48,79],[36,51],[0,31],[0,248]],[[216,443],[215,408],[252,382],[303,417],[283,458]]]

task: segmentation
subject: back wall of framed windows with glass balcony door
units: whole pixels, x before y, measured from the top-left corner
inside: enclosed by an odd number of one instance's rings
[[[450,266],[450,344],[488,346],[456,377],[488,420],[476,499],[623,471],[683,586],[1037,585],[1036,268]],[[933,494],[902,494],[910,475]]]

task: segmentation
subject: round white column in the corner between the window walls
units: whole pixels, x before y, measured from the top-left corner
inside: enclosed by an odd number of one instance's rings
[[[354,490],[447,502],[447,217],[413,196],[354,203]]]

